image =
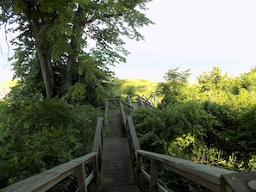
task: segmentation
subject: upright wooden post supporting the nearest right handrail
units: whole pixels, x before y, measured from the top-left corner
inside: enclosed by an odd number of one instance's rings
[[[158,178],[159,178],[159,161],[151,158],[149,192],[157,191]]]

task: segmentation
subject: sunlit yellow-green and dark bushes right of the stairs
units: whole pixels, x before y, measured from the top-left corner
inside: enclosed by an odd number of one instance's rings
[[[187,77],[177,69],[168,72],[166,77]],[[215,66],[197,77],[198,84],[173,79],[170,84],[166,79],[157,89],[163,98],[159,108],[133,113],[141,147],[230,170],[255,171],[255,77],[256,69],[228,77]],[[170,172],[163,171],[161,179],[173,191],[199,190]]]

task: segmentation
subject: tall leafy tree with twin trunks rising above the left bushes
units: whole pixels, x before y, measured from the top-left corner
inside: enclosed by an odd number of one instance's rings
[[[47,100],[75,88],[103,94],[112,76],[107,65],[128,54],[122,37],[141,40],[137,28],[152,23],[140,12],[149,1],[1,0],[1,23],[17,23],[11,30],[20,32],[13,41],[16,77],[43,82]]]

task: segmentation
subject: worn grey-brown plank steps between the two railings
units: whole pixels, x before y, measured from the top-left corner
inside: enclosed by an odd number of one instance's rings
[[[103,139],[103,177],[108,186],[105,192],[139,192],[134,181],[128,139],[122,133],[120,110],[109,110],[109,137]]]

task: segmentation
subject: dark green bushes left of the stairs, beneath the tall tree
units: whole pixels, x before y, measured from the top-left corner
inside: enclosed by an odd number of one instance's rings
[[[45,102],[17,87],[0,102],[0,188],[91,152],[100,109]]]

